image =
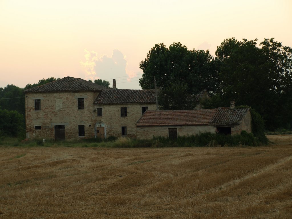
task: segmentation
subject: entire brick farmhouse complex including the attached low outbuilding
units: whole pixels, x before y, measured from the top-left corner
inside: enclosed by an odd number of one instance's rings
[[[251,132],[249,109],[157,111],[155,90],[105,88],[65,77],[25,93],[27,138],[79,140],[109,136],[176,137],[199,132]],[[202,91],[197,95],[208,98]]]

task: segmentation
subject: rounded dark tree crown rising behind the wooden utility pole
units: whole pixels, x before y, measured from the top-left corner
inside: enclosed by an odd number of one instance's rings
[[[158,87],[167,88],[175,81],[187,84],[187,93],[197,94],[203,89],[213,92],[216,75],[213,57],[203,50],[188,50],[180,42],[167,48],[163,43],[147,53],[147,58],[140,62],[143,70],[139,84],[142,89],[154,88],[154,77]]]

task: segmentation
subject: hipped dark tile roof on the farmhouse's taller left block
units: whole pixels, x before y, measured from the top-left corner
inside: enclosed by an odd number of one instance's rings
[[[26,89],[24,93],[101,91],[103,89],[107,88],[81,78],[65,77],[48,84]]]

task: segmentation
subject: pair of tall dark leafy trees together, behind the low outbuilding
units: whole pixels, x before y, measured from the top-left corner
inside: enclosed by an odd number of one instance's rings
[[[228,107],[235,100],[260,113],[269,130],[292,128],[291,47],[274,38],[260,44],[257,39],[229,38],[215,54],[213,58],[208,50],[190,51],[179,42],[169,48],[155,44],[140,62],[139,84],[152,89],[156,78],[162,109],[183,109],[188,95],[207,89],[212,98],[206,100],[206,108]]]

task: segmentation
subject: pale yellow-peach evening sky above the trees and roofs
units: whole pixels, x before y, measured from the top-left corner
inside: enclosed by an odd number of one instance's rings
[[[232,37],[292,47],[291,11],[291,0],[0,0],[0,87],[71,76],[140,89],[155,44],[213,56]]]

